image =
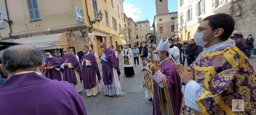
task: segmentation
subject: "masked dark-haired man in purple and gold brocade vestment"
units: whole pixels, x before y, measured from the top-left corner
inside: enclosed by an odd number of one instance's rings
[[[230,15],[218,13],[198,26],[194,38],[202,53],[188,69],[176,66],[186,84],[180,115],[255,115],[256,74],[229,38],[234,25]]]

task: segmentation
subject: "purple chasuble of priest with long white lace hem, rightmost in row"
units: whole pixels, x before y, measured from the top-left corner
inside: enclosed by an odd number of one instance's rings
[[[106,60],[102,61],[102,73],[103,73],[103,82],[104,85],[110,85],[113,82],[113,69],[112,67],[116,68],[118,78],[121,74],[119,65],[117,63],[117,59],[115,56],[115,51],[108,47],[108,49],[104,50],[106,55]]]

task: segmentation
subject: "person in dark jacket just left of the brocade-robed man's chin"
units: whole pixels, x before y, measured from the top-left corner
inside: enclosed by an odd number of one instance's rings
[[[187,49],[185,51],[185,57],[187,57],[187,65],[190,66],[195,61],[195,52],[198,49],[198,45],[195,44],[194,39],[190,39],[190,44],[187,46]]]

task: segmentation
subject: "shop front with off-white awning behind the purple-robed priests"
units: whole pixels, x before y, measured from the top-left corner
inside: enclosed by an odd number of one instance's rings
[[[40,49],[44,60],[44,53],[46,52],[50,52],[53,56],[61,60],[63,56],[62,49],[68,47],[66,33],[21,38],[14,40],[14,42],[34,45],[36,48]],[[74,48],[73,51],[75,51]]]

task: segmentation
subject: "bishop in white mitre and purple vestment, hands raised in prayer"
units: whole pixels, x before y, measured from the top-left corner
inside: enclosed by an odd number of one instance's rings
[[[160,61],[159,68],[150,63],[154,72],[153,115],[179,115],[182,103],[181,80],[176,71],[174,59],[169,56],[168,40],[160,40],[154,51],[155,61]]]

